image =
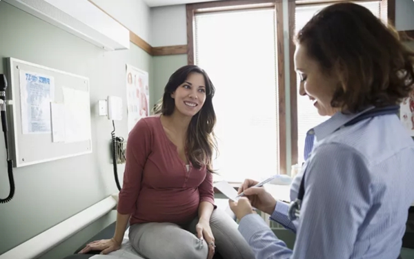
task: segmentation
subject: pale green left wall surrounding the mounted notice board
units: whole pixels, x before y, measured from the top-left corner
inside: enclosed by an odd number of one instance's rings
[[[0,1],[0,74],[6,73],[7,57],[88,76],[93,153],[14,169],[16,193],[10,203],[0,204],[0,254],[117,192],[109,148],[112,123],[97,116],[94,108],[108,95],[120,96],[126,103],[126,63],[152,74],[152,56],[133,44],[130,50],[105,52]],[[124,120],[116,127],[117,136],[126,138],[126,105]],[[41,147],[33,152],[41,152]],[[118,170],[122,180],[124,168]],[[8,191],[1,139],[0,197],[6,198]],[[41,258],[63,258],[113,220],[114,213],[104,216]]]

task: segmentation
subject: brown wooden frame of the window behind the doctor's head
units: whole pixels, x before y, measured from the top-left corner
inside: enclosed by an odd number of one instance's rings
[[[296,6],[310,6],[320,3],[338,3],[348,0],[293,0],[288,3],[289,14],[289,35],[293,38],[295,33],[295,15]],[[353,1],[372,1],[372,0],[353,0]],[[388,24],[395,25],[395,0],[380,1],[380,17]],[[289,43],[289,60],[290,60],[290,130],[291,130],[291,165],[298,162],[297,150],[297,77],[295,73],[295,65],[293,55],[295,54],[295,44],[292,40]]]

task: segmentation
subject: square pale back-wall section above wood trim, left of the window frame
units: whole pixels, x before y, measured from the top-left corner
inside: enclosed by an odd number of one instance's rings
[[[152,47],[186,45],[186,6],[151,8]]]

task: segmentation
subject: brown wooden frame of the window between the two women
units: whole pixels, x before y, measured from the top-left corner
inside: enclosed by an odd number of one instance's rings
[[[284,31],[283,31],[283,3],[282,0],[230,0],[205,3],[190,3],[186,5],[187,19],[187,59],[188,65],[193,65],[195,58],[194,22],[195,14],[206,12],[220,12],[229,10],[252,10],[255,8],[275,8],[276,13],[276,53],[277,53],[277,101],[278,131],[279,131],[279,174],[286,174],[286,98],[284,73]]]

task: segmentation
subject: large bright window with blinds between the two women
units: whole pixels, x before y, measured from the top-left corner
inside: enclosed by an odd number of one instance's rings
[[[215,180],[279,172],[275,24],[275,8],[195,14],[195,64],[216,88]]]

